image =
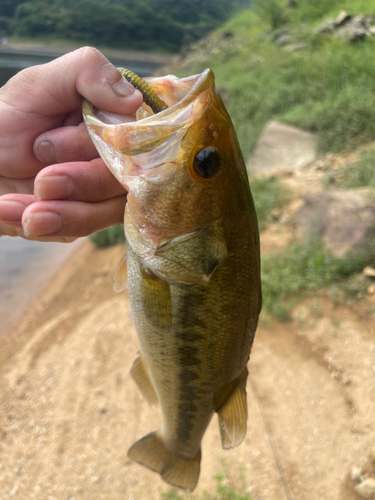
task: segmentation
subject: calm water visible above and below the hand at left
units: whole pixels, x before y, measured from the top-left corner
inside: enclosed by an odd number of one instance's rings
[[[47,63],[59,54],[0,49],[0,86],[18,71]],[[140,76],[149,75],[157,64],[110,59],[115,66],[129,68]],[[73,244],[40,243],[22,238],[0,238],[0,335],[22,314],[28,302],[77,248]]]

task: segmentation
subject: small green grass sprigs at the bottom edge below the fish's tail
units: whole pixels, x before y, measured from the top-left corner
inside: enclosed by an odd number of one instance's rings
[[[161,493],[160,498],[163,500],[252,500],[253,497],[246,491],[246,477],[243,466],[238,467],[239,484],[234,484],[235,480],[226,461],[222,460],[221,465],[222,471],[214,476],[216,492],[213,495],[205,491],[198,499],[196,495],[185,495],[175,489],[170,489]]]

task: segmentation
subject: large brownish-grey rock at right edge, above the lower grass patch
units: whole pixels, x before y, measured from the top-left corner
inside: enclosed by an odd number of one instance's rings
[[[297,237],[322,240],[334,257],[365,252],[375,238],[375,201],[368,189],[323,191],[306,198],[294,216]]]

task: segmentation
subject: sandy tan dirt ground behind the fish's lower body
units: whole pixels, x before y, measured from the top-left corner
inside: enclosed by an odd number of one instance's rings
[[[271,249],[285,231],[263,235]],[[0,498],[153,500],[169,490],[129,446],[161,422],[129,369],[138,342],[127,292],[112,291],[121,246],[86,241],[0,338]],[[225,459],[254,500],[355,500],[350,472],[375,446],[375,322],[326,297],[287,324],[261,322],[250,360],[244,443],[221,449],[216,416],[199,485]]]

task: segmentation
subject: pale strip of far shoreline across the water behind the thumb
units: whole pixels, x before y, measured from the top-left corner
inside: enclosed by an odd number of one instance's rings
[[[48,45],[43,42],[8,42],[6,45],[0,47],[0,52],[9,51],[23,54],[45,53],[46,55],[62,56],[68,52],[79,49],[85,44],[72,43],[66,45]],[[108,58],[127,59],[134,62],[148,62],[153,64],[168,64],[174,54],[164,55],[156,52],[145,52],[141,50],[118,50],[96,47]]]

